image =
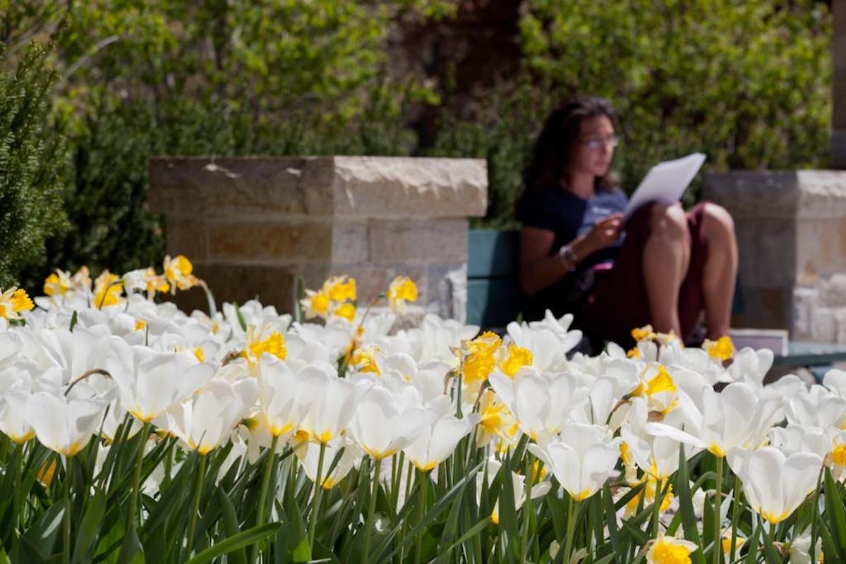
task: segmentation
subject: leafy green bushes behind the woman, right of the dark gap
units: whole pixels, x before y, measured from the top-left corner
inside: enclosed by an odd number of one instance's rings
[[[609,98],[634,189],[663,159],[702,151],[706,170],[826,167],[832,17],[802,0],[527,0],[519,22],[533,86],[486,99],[486,118],[444,128],[437,154],[487,156],[486,222],[508,220],[545,113],[566,96]],[[453,120],[454,121],[454,120]],[[505,163],[497,162],[500,159]],[[689,190],[688,202],[700,197]]]

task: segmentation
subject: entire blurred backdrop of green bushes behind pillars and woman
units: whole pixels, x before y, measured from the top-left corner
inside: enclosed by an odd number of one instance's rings
[[[157,264],[151,155],[481,157],[477,227],[514,227],[575,93],[618,108],[625,189],[827,167],[831,41],[819,0],[0,0],[0,286]]]

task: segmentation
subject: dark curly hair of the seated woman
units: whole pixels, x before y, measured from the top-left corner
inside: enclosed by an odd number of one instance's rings
[[[525,191],[547,189],[566,179],[581,123],[596,116],[607,117],[614,129],[618,129],[617,113],[611,102],[597,96],[570,98],[549,114],[535,142],[529,167],[523,174]],[[618,178],[613,172],[596,178],[596,189],[609,190],[617,185]]]

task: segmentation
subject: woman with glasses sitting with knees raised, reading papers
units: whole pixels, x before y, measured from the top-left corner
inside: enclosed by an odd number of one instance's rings
[[[591,345],[632,344],[651,324],[685,342],[701,313],[728,335],[737,276],[734,224],[719,205],[650,204],[624,222],[628,199],[610,172],[617,118],[602,98],[565,102],[547,118],[517,205],[524,316],[574,314]]]

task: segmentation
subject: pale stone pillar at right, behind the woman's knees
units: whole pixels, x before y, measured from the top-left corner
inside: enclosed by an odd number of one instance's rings
[[[733,326],[846,342],[846,172],[710,173],[737,228],[744,311]]]

